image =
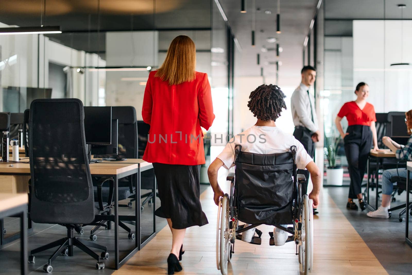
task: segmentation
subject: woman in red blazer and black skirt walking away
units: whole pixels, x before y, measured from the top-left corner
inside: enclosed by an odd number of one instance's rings
[[[208,223],[199,200],[200,165],[205,163],[203,132],[211,127],[211,88],[206,73],[195,71],[196,48],[185,35],[171,42],[158,71],[149,74],[143,99],[143,121],[150,124],[143,160],[153,163],[161,207],[172,231],[168,274],[182,270],[186,228]]]

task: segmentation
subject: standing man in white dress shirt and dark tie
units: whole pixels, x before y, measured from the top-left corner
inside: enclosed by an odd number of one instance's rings
[[[314,85],[316,69],[312,66],[302,68],[302,82],[295,89],[290,98],[293,124],[295,132],[293,136],[302,143],[311,158],[315,155],[315,142],[319,141],[318,118],[316,117],[315,98],[309,92],[310,86]],[[309,172],[304,173],[309,178]],[[302,186],[302,194],[307,193],[307,186]]]

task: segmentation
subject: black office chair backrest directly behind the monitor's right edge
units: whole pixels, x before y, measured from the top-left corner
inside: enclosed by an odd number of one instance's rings
[[[118,119],[118,157],[137,158],[137,121],[133,106],[113,106],[112,119]]]

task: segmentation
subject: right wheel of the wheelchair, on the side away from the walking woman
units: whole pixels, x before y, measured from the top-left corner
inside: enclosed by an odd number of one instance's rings
[[[299,249],[300,260],[302,261],[302,272],[307,275],[311,272],[313,262],[313,209],[312,200],[309,200],[307,195],[303,196],[302,200],[302,230],[301,244]]]

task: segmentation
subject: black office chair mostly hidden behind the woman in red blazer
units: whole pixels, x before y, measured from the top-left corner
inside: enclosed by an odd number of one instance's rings
[[[147,136],[149,134],[150,125],[147,123],[138,120],[137,122],[137,132],[138,132],[138,158],[143,158],[143,154],[146,150],[147,145]],[[155,174],[152,170],[143,171],[140,177],[140,189],[149,190],[148,193],[141,195],[140,197],[144,200],[140,205],[140,209],[144,209],[144,205],[152,204],[155,196],[156,190],[153,190]],[[159,197],[159,193],[156,192],[156,196]]]

